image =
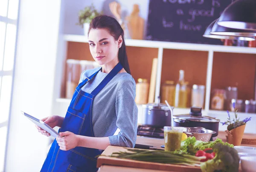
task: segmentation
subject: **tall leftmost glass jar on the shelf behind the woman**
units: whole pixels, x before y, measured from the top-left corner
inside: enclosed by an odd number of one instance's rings
[[[80,80],[80,60],[67,60],[66,98],[72,98]]]

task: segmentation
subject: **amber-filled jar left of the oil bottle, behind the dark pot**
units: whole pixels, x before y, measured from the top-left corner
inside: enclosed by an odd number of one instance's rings
[[[170,106],[174,106],[175,96],[175,83],[173,80],[166,80],[161,87],[161,103],[165,103],[165,100]]]

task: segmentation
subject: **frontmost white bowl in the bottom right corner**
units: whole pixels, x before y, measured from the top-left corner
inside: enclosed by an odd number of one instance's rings
[[[241,157],[241,168],[243,172],[256,172],[256,156]]]

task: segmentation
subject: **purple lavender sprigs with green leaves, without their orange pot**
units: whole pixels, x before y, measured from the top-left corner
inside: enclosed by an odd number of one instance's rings
[[[238,109],[236,109],[235,103],[233,103],[233,108],[235,110],[236,119],[231,120],[230,113],[227,111],[227,115],[228,115],[227,121],[223,122],[223,123],[221,122],[222,125],[227,125],[227,130],[228,131],[230,131],[231,129],[235,129],[239,126],[245,125],[249,120],[251,120],[251,117],[250,118],[245,118],[244,120],[239,120],[239,118],[237,118]]]

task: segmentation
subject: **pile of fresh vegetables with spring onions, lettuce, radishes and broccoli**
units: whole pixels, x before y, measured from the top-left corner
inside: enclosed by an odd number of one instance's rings
[[[128,149],[128,152],[113,152],[111,157],[137,161],[200,166],[202,172],[238,172],[239,156],[232,144],[221,139],[203,142],[189,137],[181,142],[180,150],[174,152]],[[104,156],[104,155],[100,155]]]

